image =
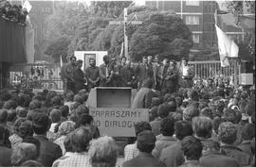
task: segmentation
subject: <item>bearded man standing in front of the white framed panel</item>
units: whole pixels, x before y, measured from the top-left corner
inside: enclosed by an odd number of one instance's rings
[[[90,67],[85,70],[85,76],[87,78],[88,91],[94,87],[99,87],[100,85],[100,69],[96,66],[96,61],[94,58],[89,59]]]

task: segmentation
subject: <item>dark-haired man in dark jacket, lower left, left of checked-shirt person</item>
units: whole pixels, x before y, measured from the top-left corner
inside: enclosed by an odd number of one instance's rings
[[[35,138],[40,142],[40,154],[38,161],[40,161],[44,166],[52,166],[54,160],[63,156],[61,147],[54,142],[48,141],[46,138],[49,124],[50,120],[44,113],[38,113],[33,117]]]

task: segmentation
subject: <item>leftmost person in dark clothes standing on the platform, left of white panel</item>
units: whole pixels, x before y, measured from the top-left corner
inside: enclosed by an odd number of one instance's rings
[[[76,60],[77,58],[72,56],[69,58],[69,63],[64,65],[61,70],[61,75],[64,81],[64,91],[75,92],[75,79],[74,71],[76,70]]]

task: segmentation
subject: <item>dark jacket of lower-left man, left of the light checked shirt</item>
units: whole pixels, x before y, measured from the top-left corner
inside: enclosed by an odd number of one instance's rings
[[[61,147],[54,143],[48,141],[45,136],[35,136],[40,142],[40,155],[38,161],[40,161],[44,166],[52,166],[54,160],[59,159],[63,156]]]

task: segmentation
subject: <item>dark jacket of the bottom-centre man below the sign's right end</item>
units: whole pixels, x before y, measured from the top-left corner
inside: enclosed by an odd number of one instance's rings
[[[137,158],[123,162],[122,167],[166,167],[166,165],[151,154],[140,152]]]

